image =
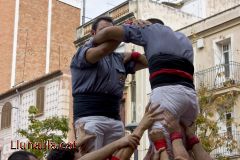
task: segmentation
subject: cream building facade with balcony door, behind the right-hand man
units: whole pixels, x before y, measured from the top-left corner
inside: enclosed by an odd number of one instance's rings
[[[193,44],[196,89],[204,84],[215,95],[240,91],[240,5],[178,31],[185,33]],[[240,159],[240,96],[231,107],[225,120],[219,121],[219,133],[230,133],[238,148],[233,151],[224,146],[217,148],[212,152],[214,157]],[[229,118],[233,119],[230,123]]]

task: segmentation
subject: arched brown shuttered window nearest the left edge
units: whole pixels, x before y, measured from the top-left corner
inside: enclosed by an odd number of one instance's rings
[[[1,129],[11,127],[11,112],[12,105],[10,102],[7,102],[3,105],[2,108],[2,119],[1,119]]]

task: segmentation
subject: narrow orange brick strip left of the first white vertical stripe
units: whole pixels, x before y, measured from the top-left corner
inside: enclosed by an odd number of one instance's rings
[[[11,85],[15,1],[0,0],[0,93]]]

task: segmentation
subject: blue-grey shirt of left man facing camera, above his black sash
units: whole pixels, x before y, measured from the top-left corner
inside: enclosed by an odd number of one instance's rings
[[[123,56],[119,53],[112,53],[91,64],[86,61],[86,52],[91,47],[91,43],[80,47],[72,58],[70,67],[73,96],[81,93],[102,93],[121,98],[126,76],[133,72],[135,64],[124,66]]]

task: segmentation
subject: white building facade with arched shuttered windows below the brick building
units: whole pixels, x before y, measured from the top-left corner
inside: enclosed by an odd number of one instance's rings
[[[66,141],[73,142],[73,110],[71,99],[71,77],[62,71],[29,81],[0,95],[0,159],[6,160],[16,151],[11,142],[24,142],[17,130],[27,129],[28,109],[36,106],[39,120],[53,116],[69,118],[70,131]]]

